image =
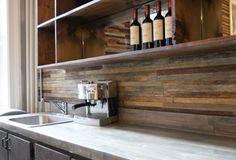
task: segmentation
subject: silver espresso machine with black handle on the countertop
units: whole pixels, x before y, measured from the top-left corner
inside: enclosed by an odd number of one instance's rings
[[[85,116],[75,116],[80,124],[103,126],[117,121],[117,84],[114,81],[82,81],[78,84],[77,109],[86,107]]]

